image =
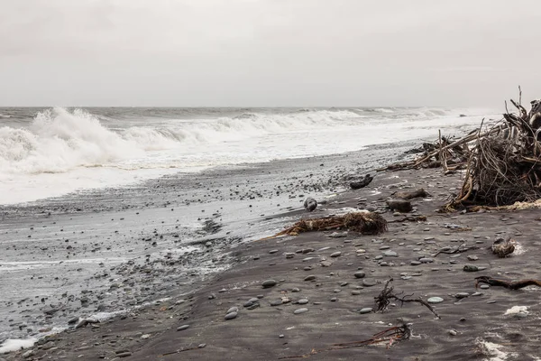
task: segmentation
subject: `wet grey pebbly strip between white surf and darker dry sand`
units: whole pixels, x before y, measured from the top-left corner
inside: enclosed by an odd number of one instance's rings
[[[189,179],[179,173],[136,188],[4,207],[0,272],[8,292],[0,300],[0,338],[8,329],[17,333],[7,338],[39,338],[74,317],[197,289],[237,263],[237,245],[301,212],[301,196],[321,200],[343,191],[345,175],[408,147],[248,164]]]

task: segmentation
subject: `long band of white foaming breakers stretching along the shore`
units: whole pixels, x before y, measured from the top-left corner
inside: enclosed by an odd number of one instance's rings
[[[253,141],[275,134],[289,134],[276,138],[280,143],[282,138],[291,139],[297,133],[350,127],[362,132],[364,125],[445,116],[448,116],[445,110],[432,108],[362,108],[278,112],[254,109],[236,116],[216,114],[212,118],[168,119],[166,115],[115,118],[55,107],[41,111],[25,127],[0,127],[0,173],[58,173],[78,167],[115,166],[160,151],[199,153],[209,144]],[[225,149],[225,152],[230,151]],[[137,168],[139,163],[132,165]],[[152,164],[150,167],[160,168],[159,162]],[[148,168],[149,162],[144,167]]]

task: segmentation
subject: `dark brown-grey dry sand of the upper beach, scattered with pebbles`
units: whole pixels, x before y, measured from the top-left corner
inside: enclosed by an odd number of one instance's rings
[[[121,356],[127,360],[273,360],[305,355],[312,349],[335,343],[367,339],[404,320],[412,323],[413,338],[391,347],[322,351],[308,359],[539,359],[539,290],[474,287],[474,277],[480,275],[540,278],[539,211],[436,213],[436,208],[460,184],[459,175],[444,176],[440,170],[380,173],[367,189],[344,193],[315,214],[302,214],[302,217],[332,214],[345,207],[383,210],[390,193],[423,187],[433,197],[414,199],[413,203],[417,213],[426,215],[426,222],[390,223],[389,232],[381,236],[350,233],[336,238],[329,237],[331,232],[317,232],[238,245],[235,256],[240,263],[206,281],[196,292],[43,338],[31,350],[0,357],[5,360],[23,357],[114,360]],[[384,217],[395,220],[402,216],[386,212]],[[454,230],[445,227],[446,224],[471,230]],[[520,247],[515,255],[500,259],[491,254],[488,247],[498,235],[513,236],[518,241]],[[460,245],[463,240],[480,248],[460,255],[432,256],[441,247]],[[390,248],[381,249],[382,246]],[[314,252],[307,252],[309,248]],[[359,252],[360,249],[366,252]],[[398,256],[383,255],[386,251],[394,251]],[[331,257],[335,252],[341,254]],[[288,253],[293,256],[288,257]],[[382,259],[378,260],[381,255]],[[431,257],[434,262],[410,264],[422,256]],[[478,260],[470,261],[467,256],[477,256]],[[486,269],[468,273],[463,271],[464,264]],[[364,279],[353,276],[358,270],[366,273]],[[315,276],[314,280],[304,281],[309,275]],[[415,303],[403,307],[391,305],[383,313],[360,314],[362,308],[374,307],[374,296],[390,277],[397,292],[413,293],[425,300],[432,296],[443,298],[443,302],[435,304],[441,319]],[[278,284],[263,289],[261,282],[269,279]],[[363,286],[363,280],[376,284]],[[454,297],[458,292],[471,296],[459,300]],[[472,296],[474,292],[481,294]],[[259,307],[253,310],[243,307],[246,301],[256,297],[261,298]],[[284,297],[289,299],[288,303],[271,306],[271,301]],[[298,304],[301,299],[307,299],[307,304]],[[528,306],[529,313],[526,317],[504,315],[513,306]],[[238,316],[225,320],[226,311],[232,307],[239,309]],[[301,308],[308,310],[298,315],[293,313]],[[188,329],[177,330],[183,325],[189,325]],[[450,330],[456,334],[452,335]]]

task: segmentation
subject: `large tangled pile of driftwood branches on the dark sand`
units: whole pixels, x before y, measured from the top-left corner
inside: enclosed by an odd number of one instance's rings
[[[443,211],[461,208],[510,207],[517,202],[541,199],[541,100],[529,112],[511,99],[515,112],[481,127],[454,142],[439,136],[425,144],[425,153],[414,161],[393,164],[386,170],[442,167],[445,172],[463,169],[463,186]]]

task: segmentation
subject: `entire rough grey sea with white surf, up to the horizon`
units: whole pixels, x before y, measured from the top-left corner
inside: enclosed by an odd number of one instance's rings
[[[116,187],[174,172],[433,139],[488,109],[0,108],[0,204]]]

